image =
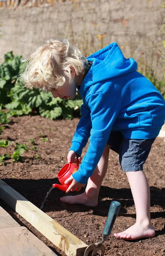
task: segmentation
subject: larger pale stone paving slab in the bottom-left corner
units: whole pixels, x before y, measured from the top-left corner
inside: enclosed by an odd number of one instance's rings
[[[0,229],[0,256],[57,256],[26,227]]]

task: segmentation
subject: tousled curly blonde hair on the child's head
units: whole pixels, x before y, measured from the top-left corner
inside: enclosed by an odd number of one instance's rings
[[[58,90],[65,82],[73,81],[71,67],[77,76],[84,75],[88,61],[67,39],[49,39],[29,55],[21,79],[29,89]]]

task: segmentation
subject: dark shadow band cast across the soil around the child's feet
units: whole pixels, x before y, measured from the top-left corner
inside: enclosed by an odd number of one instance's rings
[[[38,208],[41,207],[43,199],[46,193],[51,188],[53,183],[59,183],[58,179],[39,179],[39,180],[20,180],[20,179],[3,179],[9,186],[23,195],[31,203]],[[77,195],[84,192],[85,188],[82,188],[81,192],[68,193],[68,195]],[[156,205],[164,207],[165,188],[159,189],[151,186],[151,207]],[[50,211],[63,211],[64,209],[69,212],[86,212],[89,209],[93,210],[94,215],[107,216],[108,209],[112,200],[117,200],[121,204],[119,215],[125,217],[136,218],[135,214],[128,214],[126,208],[134,205],[134,201],[131,194],[131,189],[112,189],[107,186],[101,186],[99,194],[99,204],[97,207],[86,207],[83,205],[75,204],[69,205],[60,201],[60,198],[65,196],[65,192],[54,188],[48,195],[46,202],[43,206],[44,212]],[[151,218],[164,218],[165,212],[151,212]]]

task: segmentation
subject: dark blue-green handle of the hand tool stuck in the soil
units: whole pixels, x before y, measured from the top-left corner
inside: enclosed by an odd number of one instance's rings
[[[119,210],[120,210],[120,206],[121,206],[121,204],[118,201],[111,202],[107,220],[105,222],[105,227],[103,230],[103,236],[106,237],[105,240],[108,238],[107,236],[109,236],[111,234],[112,227],[114,226],[114,222],[115,222],[117,215],[119,213]]]

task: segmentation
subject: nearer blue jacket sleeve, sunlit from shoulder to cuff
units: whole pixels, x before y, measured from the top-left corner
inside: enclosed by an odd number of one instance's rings
[[[93,174],[121,109],[121,100],[110,93],[92,94],[87,101],[92,122],[90,143],[79,170],[72,175],[83,184]]]

